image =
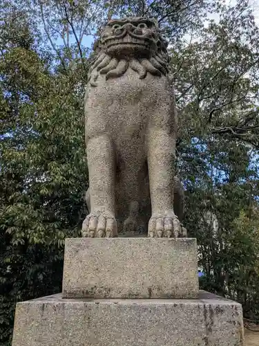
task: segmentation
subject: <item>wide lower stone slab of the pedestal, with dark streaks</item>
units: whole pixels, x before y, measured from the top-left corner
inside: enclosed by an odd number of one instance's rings
[[[17,304],[12,346],[244,346],[240,304],[198,300],[61,299]]]

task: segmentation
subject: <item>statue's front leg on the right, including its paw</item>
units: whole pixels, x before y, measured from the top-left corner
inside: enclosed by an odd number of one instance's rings
[[[182,236],[180,221],[173,210],[175,135],[166,129],[150,129],[146,143],[152,206],[148,236]]]

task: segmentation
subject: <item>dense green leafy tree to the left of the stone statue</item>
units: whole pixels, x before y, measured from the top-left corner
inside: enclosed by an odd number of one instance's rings
[[[15,13],[1,25],[3,345],[11,340],[15,302],[61,290],[64,239],[79,235],[88,183],[81,64],[66,71],[56,65],[55,72],[51,52],[35,50],[26,13]]]

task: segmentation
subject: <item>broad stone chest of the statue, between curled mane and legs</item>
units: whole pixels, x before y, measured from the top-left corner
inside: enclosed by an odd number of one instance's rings
[[[128,141],[148,126],[170,122],[172,93],[166,78],[147,73],[140,79],[129,69],[119,78],[98,78],[97,86],[88,89],[85,107],[89,136],[108,131]]]

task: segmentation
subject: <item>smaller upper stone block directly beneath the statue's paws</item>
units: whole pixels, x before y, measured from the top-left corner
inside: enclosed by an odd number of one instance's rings
[[[66,239],[63,296],[197,298],[196,239]]]

